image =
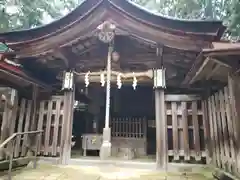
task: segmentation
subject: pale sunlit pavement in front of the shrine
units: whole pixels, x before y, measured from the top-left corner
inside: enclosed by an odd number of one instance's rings
[[[6,175],[0,177],[5,180]],[[38,165],[37,169],[28,166],[13,172],[13,180],[212,180],[211,172],[165,173],[151,170],[106,166],[54,166]]]

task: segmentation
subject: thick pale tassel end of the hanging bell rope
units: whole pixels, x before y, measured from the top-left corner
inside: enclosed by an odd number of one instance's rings
[[[100,158],[101,159],[107,159],[111,156],[111,129],[110,128],[104,128],[103,129],[103,143],[100,149]]]

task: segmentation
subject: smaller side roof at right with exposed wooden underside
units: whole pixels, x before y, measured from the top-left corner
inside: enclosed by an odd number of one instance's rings
[[[230,72],[240,72],[239,58],[240,43],[213,42],[212,48],[199,54],[183,84],[210,79],[227,82]]]

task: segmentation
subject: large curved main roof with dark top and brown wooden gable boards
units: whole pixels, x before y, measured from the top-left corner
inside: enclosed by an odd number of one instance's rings
[[[76,38],[91,36],[105,20],[142,39],[168,47],[196,50],[219,40],[225,27],[221,21],[179,20],[150,13],[128,0],[85,0],[67,16],[34,29],[0,34],[13,48],[48,43],[65,46]],[[54,38],[55,37],[55,38]],[[28,45],[27,45],[28,44]],[[22,48],[22,46],[21,46]]]

